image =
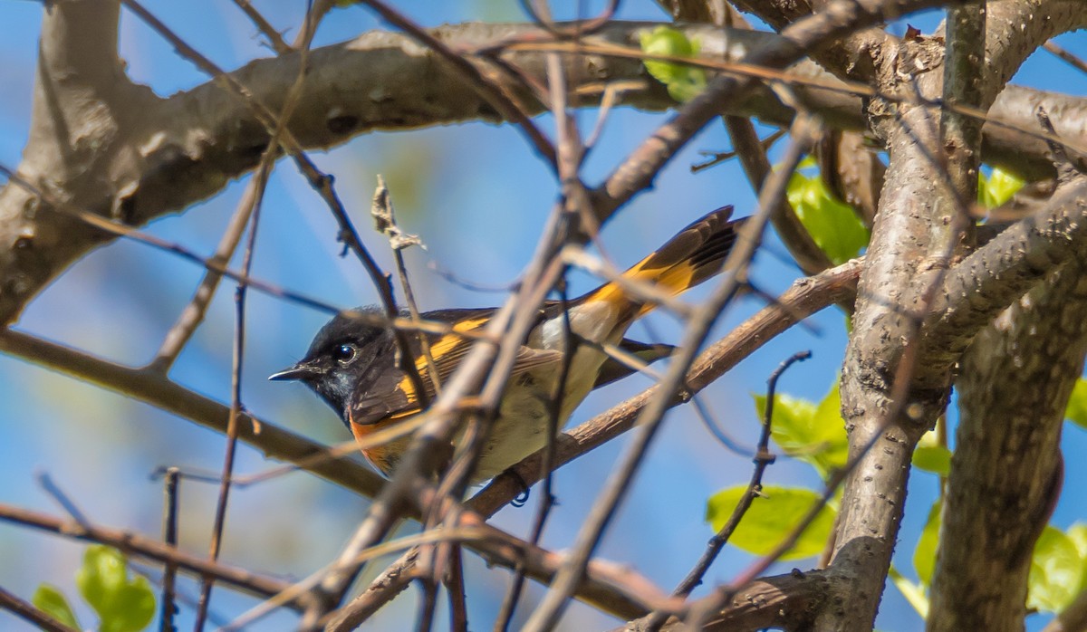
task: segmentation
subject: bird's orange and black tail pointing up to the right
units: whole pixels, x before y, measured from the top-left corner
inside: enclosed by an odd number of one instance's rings
[[[732,219],[732,206],[722,206],[684,228],[667,243],[623,273],[623,278],[636,283],[650,283],[675,296],[721,271],[725,257],[736,244],[737,231],[746,217]],[[583,301],[607,301],[628,309],[638,318],[655,305],[635,298],[619,281],[605,283],[589,292]]]

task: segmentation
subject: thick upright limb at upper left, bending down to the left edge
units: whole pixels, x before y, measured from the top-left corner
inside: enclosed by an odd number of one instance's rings
[[[115,204],[105,165],[139,164],[135,147],[140,114],[158,99],[128,81],[116,52],[115,0],[51,3],[38,48],[29,140],[20,173],[65,201],[110,217]],[[0,190],[0,324],[62,266],[103,236],[71,217],[58,217],[23,189]]]

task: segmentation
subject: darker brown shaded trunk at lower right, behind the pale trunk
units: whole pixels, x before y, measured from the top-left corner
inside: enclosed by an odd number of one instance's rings
[[[1049,276],[974,339],[928,630],[1023,630],[1034,543],[1060,493],[1064,409],[1087,352],[1087,276]]]

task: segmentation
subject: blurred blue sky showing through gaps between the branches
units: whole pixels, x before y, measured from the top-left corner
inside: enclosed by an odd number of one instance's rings
[[[255,2],[274,24],[290,27],[299,22],[302,2]],[[230,2],[190,0],[146,2],[148,9],[226,68],[254,56],[264,56],[254,29]],[[520,20],[516,2],[410,2],[404,11],[428,26],[478,18]],[[0,162],[18,163],[26,140],[30,111],[34,62],[41,9],[34,2],[0,5]],[[661,20],[662,13],[648,1],[626,2],[622,17]],[[930,27],[935,17],[922,16],[913,24]],[[323,24],[316,46],[349,38],[380,25],[366,11],[338,11]],[[293,35],[293,31],[289,34]],[[1082,38],[1066,37],[1062,43],[1087,53]],[[158,35],[124,14],[121,50],[132,76],[149,84],[160,96],[191,88],[205,81],[188,62],[179,59]],[[1070,72],[1047,54],[1035,55],[1016,81],[1053,88],[1074,94],[1087,92],[1083,75]],[[1066,77],[1066,79],[1065,79]],[[595,124],[596,111],[579,113],[583,129]],[[661,115],[628,109],[613,111],[598,149],[586,167],[592,184],[609,173],[623,155],[645,139],[662,121]],[[540,125],[551,130],[548,117]],[[687,168],[701,160],[699,151],[728,148],[723,126],[711,124],[672,165],[661,174],[654,188],[628,204],[611,222],[603,241],[609,254],[621,264],[639,260],[691,219],[732,203],[739,215],[753,210],[753,194],[738,165],[725,164],[699,175]],[[437,274],[433,266],[457,277],[487,287],[503,287],[516,279],[533,252],[540,228],[555,200],[557,185],[548,167],[535,156],[517,131],[508,126],[466,124],[402,134],[373,134],[330,152],[314,154],[318,166],[336,175],[339,193],[379,263],[389,268],[390,256],[380,236],[373,232],[367,217],[375,177],[383,174],[404,228],[420,235],[426,251],[415,249],[408,261],[416,296],[423,308],[441,306],[495,305],[502,293],[468,290]],[[233,213],[243,181],[234,182],[214,198],[195,205],[183,215],[155,222],[149,231],[203,253],[214,248]],[[336,228],[318,197],[296,173],[280,163],[265,198],[260,227],[254,274],[274,283],[302,290],[340,306],[375,301],[370,281],[357,261],[337,256]],[[798,276],[783,263],[784,249],[776,239],[761,254],[754,280],[764,290],[779,292]],[[776,253],[776,254],[775,254]],[[237,263],[237,262],[236,262]],[[189,263],[138,243],[117,242],[99,249],[78,262],[48,288],[25,312],[18,328],[79,349],[139,365],[149,361],[179,309],[189,300],[201,270]],[[586,275],[573,278],[574,290],[585,291],[594,280]],[[207,323],[178,359],[172,377],[182,384],[221,401],[228,401],[230,344],[233,336],[233,286],[224,285],[212,304]],[[696,301],[704,289],[688,299]],[[742,300],[725,314],[714,338],[726,332],[761,306]],[[289,365],[305,351],[313,332],[325,316],[305,307],[250,293],[242,376],[243,401],[248,409],[274,424],[324,442],[347,439],[334,414],[301,387],[268,383],[265,377]],[[678,324],[666,315],[651,318],[653,331],[675,341]],[[845,345],[845,320],[840,313],[826,311],[812,319],[813,330],[795,328],[745,361],[723,380],[705,391],[704,401],[717,421],[740,443],[752,444],[758,419],[750,393],[763,392],[765,379],[788,355],[812,349],[814,357],[794,368],[782,390],[817,400],[834,381]],[[647,337],[636,326],[633,333]],[[641,378],[630,378],[595,393],[575,414],[572,424],[589,418],[621,399],[645,388]],[[0,356],[0,425],[5,441],[0,442],[0,502],[18,504],[54,514],[61,510],[37,485],[35,475],[48,472],[95,521],[134,531],[157,534],[161,520],[161,483],[150,472],[164,465],[217,471],[224,440],[192,424],[146,405],[104,393],[21,361]],[[1072,454],[1087,448],[1087,437],[1070,427],[1065,450]],[[596,492],[607,478],[625,440],[579,459],[558,473],[561,505],[553,514],[544,544],[564,548],[571,544]],[[239,473],[252,473],[274,466],[260,454],[243,447]],[[1085,465],[1067,459],[1066,480],[1087,476]],[[750,463],[716,443],[687,409],[670,414],[635,483],[630,500],[623,506],[600,554],[620,560],[671,587],[687,571],[711,535],[702,521],[705,498],[714,491],[747,481]],[[772,484],[816,485],[817,477],[808,466],[779,459],[766,478]],[[912,572],[910,552],[935,498],[936,479],[915,473],[911,481],[905,526],[896,561],[907,574]],[[182,492],[183,543],[192,552],[207,549],[213,515],[215,489],[185,483]],[[1074,485],[1065,488],[1054,522],[1066,526],[1083,515],[1084,497]],[[366,503],[304,473],[295,473],[232,496],[223,557],[277,576],[304,577],[338,551],[365,511]],[[534,504],[529,505],[529,508]],[[533,511],[504,509],[497,523],[524,534]],[[652,546],[645,546],[651,542]],[[41,581],[60,585],[74,595],[72,576],[83,545],[40,533],[0,524],[0,585],[29,595]],[[728,548],[711,569],[709,583],[728,580],[751,557]],[[787,570],[783,565],[777,570]],[[508,576],[487,572],[478,559],[468,565],[474,627],[486,627],[498,607]],[[191,584],[186,590],[193,592]],[[538,598],[538,586],[528,592]],[[414,593],[383,611],[374,629],[391,624],[399,617],[413,616]],[[250,607],[252,599],[228,591],[216,591],[213,609],[224,617]],[[186,625],[189,609],[184,609]],[[83,622],[92,621],[83,609]],[[11,620],[0,615],[7,629]],[[270,619],[263,629],[278,629],[290,619]],[[594,610],[576,606],[564,623],[567,629],[607,628],[611,620]],[[913,615],[895,589],[886,592],[878,627],[887,631],[919,629]],[[1032,621],[1032,627],[1038,627]]]

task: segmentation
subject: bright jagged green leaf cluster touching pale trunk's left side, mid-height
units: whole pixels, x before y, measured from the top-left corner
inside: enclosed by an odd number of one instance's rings
[[[766,396],[754,395],[759,418],[766,416]],[[811,464],[824,479],[849,458],[849,441],[841,420],[838,384],[817,405],[778,394],[774,400],[771,435],[785,454]]]

